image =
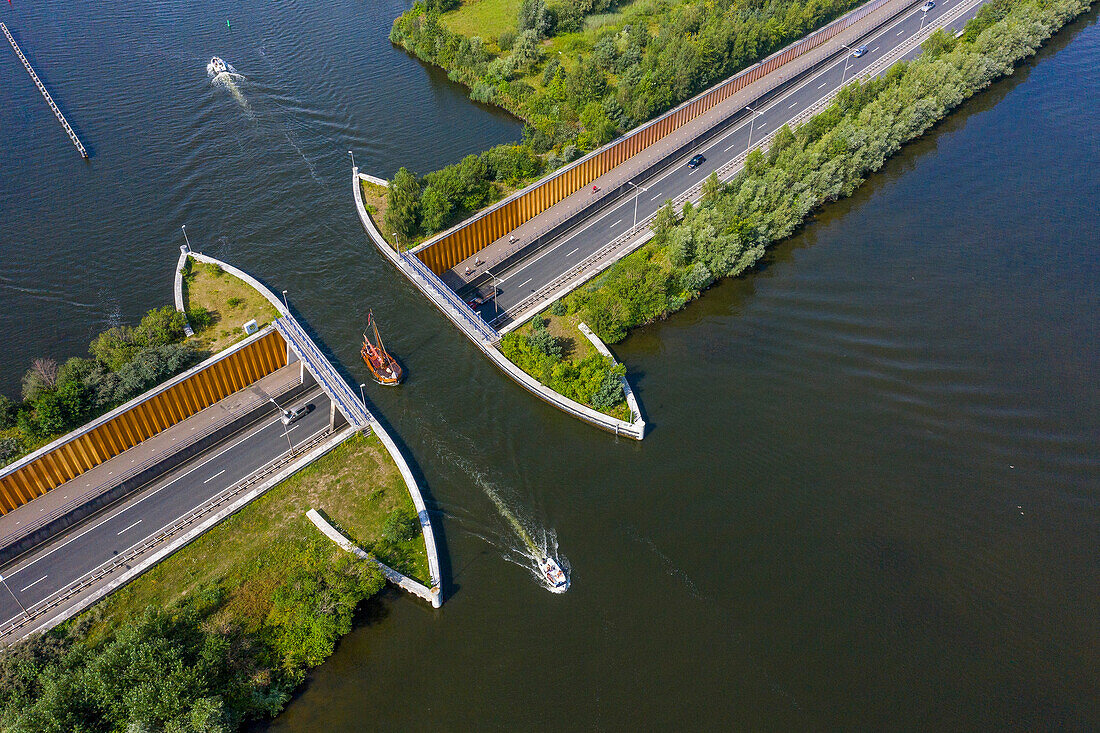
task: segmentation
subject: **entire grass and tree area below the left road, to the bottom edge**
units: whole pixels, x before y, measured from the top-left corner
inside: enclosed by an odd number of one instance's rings
[[[0,655],[4,731],[235,731],[270,719],[384,587],[306,518],[427,580],[411,497],[356,436],[77,620]]]

